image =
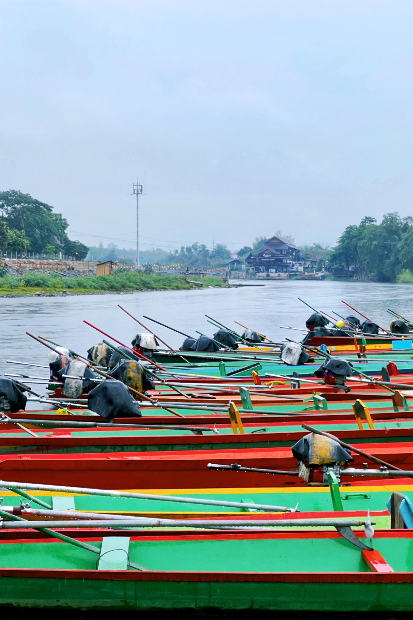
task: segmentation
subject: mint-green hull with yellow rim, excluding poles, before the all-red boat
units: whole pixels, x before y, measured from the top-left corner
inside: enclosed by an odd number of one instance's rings
[[[271,479],[267,477],[267,482]],[[132,492],[142,492],[142,489],[133,489]],[[156,495],[178,495],[180,497],[221,500],[224,502],[250,502],[266,505],[285,506],[293,508],[298,504],[298,510],[302,515],[308,511],[323,511],[326,515],[333,508],[331,494],[328,487],[230,487],[218,489],[146,489],[147,493]],[[342,505],[346,514],[349,511],[359,511],[365,514],[367,510],[382,511],[386,509],[386,503],[393,492],[401,492],[413,501],[413,479],[390,479],[390,480],[363,480],[352,481],[351,487],[341,486],[340,494]],[[34,497],[53,505],[54,509],[62,505],[62,498],[67,494],[58,492],[30,491]],[[3,491],[4,506],[20,507],[20,496],[11,491]],[[78,511],[107,512],[122,515],[160,516],[162,518],[185,518],[191,516],[211,515],[240,515],[246,513],[246,508],[228,508],[209,505],[196,505],[191,503],[169,502],[165,500],[146,500],[125,497],[102,497],[99,495],[70,495],[65,507],[71,505]],[[40,505],[32,503],[32,508],[40,508]],[[251,514],[251,513],[249,513]],[[262,513],[256,513],[262,514]],[[286,513],[290,515],[291,513]],[[338,513],[336,513],[338,514]],[[376,519],[375,519],[376,520]],[[384,525],[381,522],[380,528]],[[388,527],[388,525],[386,525]],[[10,536],[11,532],[0,530],[0,539]],[[40,536],[41,538],[41,536]]]

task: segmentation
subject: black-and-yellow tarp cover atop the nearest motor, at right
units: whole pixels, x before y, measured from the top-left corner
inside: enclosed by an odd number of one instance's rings
[[[305,435],[291,449],[293,457],[306,466],[354,461],[350,449],[343,448],[337,441],[318,433]]]

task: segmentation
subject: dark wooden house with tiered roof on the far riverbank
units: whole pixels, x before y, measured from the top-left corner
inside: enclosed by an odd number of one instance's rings
[[[290,273],[303,271],[304,257],[294,244],[271,237],[258,248],[256,254],[246,257],[245,262],[256,273]]]

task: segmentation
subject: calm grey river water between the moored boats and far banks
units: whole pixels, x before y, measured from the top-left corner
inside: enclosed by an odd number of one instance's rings
[[[300,340],[300,332],[280,329],[280,325],[305,329],[305,320],[311,310],[298,301],[298,297],[332,316],[332,311],[342,316],[352,312],[341,303],[344,299],[383,327],[388,327],[391,320],[387,308],[413,319],[413,286],[378,283],[290,281],[231,289],[207,288],[67,298],[2,298],[0,373],[12,371],[13,366],[6,364],[6,359],[47,363],[46,347],[30,339],[25,335],[26,331],[46,336],[84,355],[87,348],[101,340],[98,332],[84,324],[83,319],[86,319],[129,345],[134,335],[144,330],[122,312],[118,304],[154,329],[155,334],[159,334],[174,348],[181,345],[183,337],[142,319],[143,314],[195,337],[196,330],[207,335],[215,331],[206,322],[204,314],[209,314],[230,329],[241,329],[234,323],[235,320],[274,339],[290,337]],[[21,366],[14,366],[14,369],[25,372]],[[43,376],[42,372],[38,369],[37,372],[27,374]]]

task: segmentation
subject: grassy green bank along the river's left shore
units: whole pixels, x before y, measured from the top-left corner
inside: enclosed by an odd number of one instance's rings
[[[225,286],[217,276],[202,279],[204,286]],[[22,276],[0,277],[0,296],[6,294],[35,293],[102,293],[121,291],[184,290],[201,288],[173,275],[144,275],[136,272],[120,272],[115,275],[82,276],[65,278],[58,274],[27,272]]]

